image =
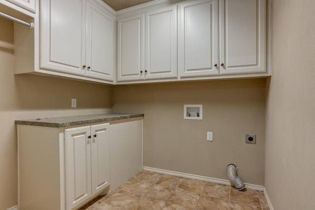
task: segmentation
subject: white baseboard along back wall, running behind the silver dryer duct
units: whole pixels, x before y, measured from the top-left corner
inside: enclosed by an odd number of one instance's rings
[[[199,179],[199,180],[204,180],[204,181],[212,181],[212,182],[221,183],[221,184],[228,184],[228,185],[231,184],[230,181],[226,179],[212,178],[212,177],[207,177],[207,176],[202,176],[202,175],[185,174],[181,172],[167,171],[163,169],[156,169],[156,168],[151,168],[151,167],[146,167],[146,166],[143,167],[143,170],[150,171],[150,172],[157,172],[161,174],[167,174],[167,175],[183,176],[187,178],[194,178],[194,179]],[[256,184],[249,184],[249,183],[244,183],[244,184],[249,189],[264,191],[263,186],[256,185]],[[268,201],[268,204],[269,204],[269,201]]]

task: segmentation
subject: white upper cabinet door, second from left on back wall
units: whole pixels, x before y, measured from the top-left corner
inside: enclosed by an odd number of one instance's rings
[[[146,12],[145,79],[177,77],[177,6]]]

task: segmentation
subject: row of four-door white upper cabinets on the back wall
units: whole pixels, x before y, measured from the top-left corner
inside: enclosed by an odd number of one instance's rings
[[[269,75],[266,0],[151,4],[118,13],[118,82]]]

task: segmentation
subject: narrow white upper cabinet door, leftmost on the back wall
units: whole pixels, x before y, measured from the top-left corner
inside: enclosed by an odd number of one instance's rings
[[[143,79],[144,14],[118,20],[117,45],[117,81]]]

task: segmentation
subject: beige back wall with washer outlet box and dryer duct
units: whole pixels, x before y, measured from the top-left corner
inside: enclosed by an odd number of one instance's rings
[[[264,184],[265,79],[115,86],[112,98],[113,111],[145,114],[144,166],[228,179],[234,163],[244,182]],[[184,104],[202,104],[203,120],[184,120]]]

